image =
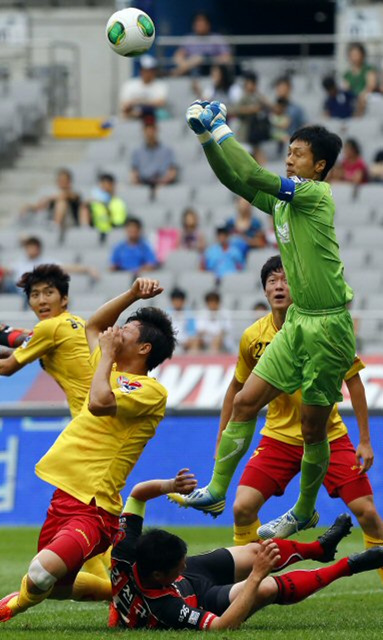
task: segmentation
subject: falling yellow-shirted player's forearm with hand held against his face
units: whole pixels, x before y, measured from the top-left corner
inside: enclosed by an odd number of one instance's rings
[[[110,384],[110,374],[122,347],[121,329],[109,327],[100,335],[98,342],[101,357],[90,385],[88,409],[94,416],[115,416],[117,402]]]

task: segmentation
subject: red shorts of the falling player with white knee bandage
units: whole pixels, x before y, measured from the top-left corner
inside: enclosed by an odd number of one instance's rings
[[[60,582],[70,584],[85,560],[108,549],[118,528],[118,516],[98,507],[94,500],[84,504],[56,489],[40,531],[38,550],[51,549],[60,556],[68,567]]]

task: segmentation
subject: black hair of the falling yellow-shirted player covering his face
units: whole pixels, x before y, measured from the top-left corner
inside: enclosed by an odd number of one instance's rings
[[[152,348],[146,364],[149,371],[166,358],[171,358],[177,344],[176,334],[169,316],[156,307],[141,307],[126,321],[139,322],[140,342],[149,342]]]

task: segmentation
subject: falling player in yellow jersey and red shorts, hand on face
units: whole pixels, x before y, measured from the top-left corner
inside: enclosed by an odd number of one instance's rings
[[[86,559],[108,549],[118,531],[120,491],[165,413],[167,392],[148,372],[172,356],[176,341],[170,319],[153,307],[139,309],[122,328],[109,327],[100,337],[99,329],[139,297],[161,292],[157,281],[142,279],[140,295],[130,290],[114,298],[86,325],[94,368],[90,392],[36,466],[39,478],[57,489],[38,554],[20,591],[0,601],[0,621],[48,597],[110,598],[110,581],[78,572]]]

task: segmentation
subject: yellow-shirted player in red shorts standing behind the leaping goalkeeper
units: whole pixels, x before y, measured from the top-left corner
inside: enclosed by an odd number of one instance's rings
[[[291,304],[290,291],[280,256],[267,260],[261,281],[271,313],[248,327],[241,338],[237,366],[227,389],[217,438],[217,449],[230,418],[235,395],[243,388],[267,345],[285,321]],[[363,362],[356,356],[345,380],[358,421],[360,442],[355,450],[347,427],[335,406],[327,431],[330,441],[330,465],[324,485],[331,497],[340,497],[358,518],[367,547],[383,545],[383,521],[376,511],[373,491],[366,471],[372,466],[374,452],[370,442],[368,409],[359,371]],[[281,394],[268,407],[263,436],[250,458],[237,489],[234,503],[234,542],[246,544],[273,537],[272,527],[260,527],[258,512],[273,495],[280,496],[290,480],[299,473],[302,459],[300,409],[302,393]],[[361,461],[363,460],[363,464]],[[188,496],[172,494],[173,501],[188,506]],[[380,571],[383,579],[383,570]]]

